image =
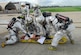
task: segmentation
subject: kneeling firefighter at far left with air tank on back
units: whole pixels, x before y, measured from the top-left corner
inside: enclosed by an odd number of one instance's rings
[[[12,18],[12,20],[8,24],[7,29],[10,35],[6,37],[5,42],[2,42],[1,44],[2,47],[5,47],[6,45],[9,44],[15,44],[19,40],[18,38],[19,30],[21,30],[27,37],[29,37],[28,33],[22,27],[22,19],[20,19],[20,17],[18,17],[17,19]]]

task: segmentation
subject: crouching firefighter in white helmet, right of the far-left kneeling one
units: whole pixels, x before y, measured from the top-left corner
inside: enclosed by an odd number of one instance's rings
[[[35,25],[34,19],[32,17],[26,17],[25,24],[28,33],[36,33],[37,26]]]

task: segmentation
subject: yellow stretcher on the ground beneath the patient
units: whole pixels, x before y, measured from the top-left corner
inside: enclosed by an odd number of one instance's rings
[[[53,38],[53,36],[50,36],[50,38]],[[38,43],[36,40],[34,39],[28,39],[28,40],[24,40],[24,39],[21,39],[20,42],[22,43]],[[52,42],[52,39],[46,39],[44,41],[44,44],[51,44]],[[59,44],[65,44],[67,42],[67,38],[66,37],[63,37],[60,41],[59,41]]]

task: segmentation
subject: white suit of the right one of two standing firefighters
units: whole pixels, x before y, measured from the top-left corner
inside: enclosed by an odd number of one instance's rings
[[[43,35],[43,36],[46,35],[45,29],[43,28],[43,25],[42,25],[45,18],[43,17],[43,15],[38,7],[35,7],[35,9],[34,9],[34,16],[35,16],[34,23],[40,29],[40,32],[37,34]]]

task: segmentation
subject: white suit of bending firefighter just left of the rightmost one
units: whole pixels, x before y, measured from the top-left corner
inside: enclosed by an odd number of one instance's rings
[[[49,16],[46,17],[46,31],[49,33],[49,35],[54,35],[54,33],[56,32],[56,23],[58,22],[58,20],[53,17],[53,16]]]

